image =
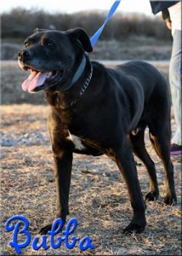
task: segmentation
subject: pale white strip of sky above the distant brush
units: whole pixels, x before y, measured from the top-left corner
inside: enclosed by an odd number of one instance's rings
[[[9,12],[13,8],[43,9],[50,13],[63,12],[74,13],[84,10],[108,10],[115,0],[2,0],[0,3],[0,13]],[[145,15],[151,14],[149,0],[121,0],[117,9],[122,12],[138,12]]]

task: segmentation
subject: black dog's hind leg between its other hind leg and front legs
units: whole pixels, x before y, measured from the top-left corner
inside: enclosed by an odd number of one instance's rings
[[[144,163],[149,175],[150,190],[145,195],[145,200],[155,201],[159,196],[159,189],[156,179],[156,168],[154,162],[151,160],[151,157],[145,149],[144,134],[145,129],[142,129],[136,135],[131,133],[129,138],[134,154]]]

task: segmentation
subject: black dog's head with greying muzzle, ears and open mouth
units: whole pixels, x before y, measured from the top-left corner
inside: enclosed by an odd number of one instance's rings
[[[71,78],[84,52],[92,50],[82,28],[66,32],[36,29],[18,53],[20,67],[31,72],[22,84],[23,90],[37,92],[64,83]]]

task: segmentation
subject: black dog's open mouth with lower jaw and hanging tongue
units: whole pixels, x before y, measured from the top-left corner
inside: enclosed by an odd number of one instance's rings
[[[50,86],[57,84],[57,81],[59,81],[63,73],[60,70],[41,72],[31,67],[24,67],[24,69],[29,69],[31,72],[29,77],[21,85],[22,89],[28,92],[48,89]]]

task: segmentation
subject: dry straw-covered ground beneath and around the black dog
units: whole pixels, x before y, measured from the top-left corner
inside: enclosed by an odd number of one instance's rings
[[[12,75],[14,87],[2,70],[6,81],[4,97],[14,97],[14,88],[22,79]],[[10,68],[15,69],[13,62]],[[165,69],[163,66],[160,68]],[[164,73],[167,69],[163,70]],[[11,78],[11,83],[12,83]],[[3,86],[5,86],[5,84]],[[20,86],[20,85],[19,85]],[[3,89],[4,91],[4,89]],[[39,96],[39,95],[37,95]],[[26,95],[31,97],[31,95]],[[14,255],[10,247],[13,232],[6,231],[5,222],[14,215],[23,215],[30,222],[31,241],[37,231],[54,218],[56,207],[53,175],[53,157],[47,131],[48,106],[38,103],[1,106],[1,248],[0,255]],[[172,113],[172,129],[175,123]],[[147,202],[147,226],[142,234],[122,235],[122,229],[132,218],[132,209],[122,175],[114,162],[101,157],[74,154],[70,215],[77,218],[74,236],[89,236],[94,249],[83,252],[77,246],[69,250],[63,243],[58,249],[41,248],[35,251],[31,244],[22,249],[23,255],[181,255],[181,162],[173,156],[174,179],[178,197],[177,206],[162,203],[165,195],[164,172],[161,160],[151,148],[147,131],[145,144],[156,163],[160,189],[158,201]],[[143,195],[149,183],[145,166],[138,160],[137,169]],[[61,235],[60,235],[61,236]],[[56,236],[57,237],[57,236]],[[20,241],[25,236],[19,235]],[[48,237],[48,245],[50,239]]]

